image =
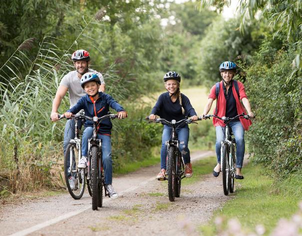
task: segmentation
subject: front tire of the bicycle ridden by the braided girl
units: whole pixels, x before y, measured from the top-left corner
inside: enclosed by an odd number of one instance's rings
[[[175,147],[170,146],[168,149],[168,165],[167,165],[167,175],[168,175],[168,195],[170,202],[175,201]]]

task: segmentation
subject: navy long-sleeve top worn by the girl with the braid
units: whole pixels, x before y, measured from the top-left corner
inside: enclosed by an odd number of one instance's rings
[[[189,98],[181,93],[183,108],[185,109],[185,114],[182,114],[181,105],[179,104],[179,97],[177,97],[175,102],[172,102],[169,92],[162,93],[155,106],[153,107],[151,114],[158,115],[160,118],[163,118],[168,121],[172,120],[182,120],[186,116],[195,116],[197,115],[194,108],[192,107]],[[184,124],[183,126],[185,126]],[[182,126],[182,127],[183,127]]]

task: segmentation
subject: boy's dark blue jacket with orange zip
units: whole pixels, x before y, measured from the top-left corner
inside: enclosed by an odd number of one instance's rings
[[[71,112],[72,114],[78,113],[80,110],[84,109],[86,116],[97,116],[101,117],[107,115],[109,112],[109,106],[116,110],[117,112],[125,111],[124,108],[117,103],[110,95],[99,92],[99,97],[96,101],[93,101],[93,98],[88,94],[81,97],[80,100],[71,107],[67,112]],[[84,123],[84,127],[87,126],[93,127],[93,122],[90,120],[86,120]],[[98,133],[111,135],[112,123],[110,118],[103,120],[98,125]]]

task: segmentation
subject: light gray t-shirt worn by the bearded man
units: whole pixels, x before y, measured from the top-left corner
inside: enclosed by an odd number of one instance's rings
[[[105,84],[103,75],[100,72],[97,72],[93,69],[88,69],[88,72],[96,73],[97,76],[100,78],[101,84]],[[86,94],[84,89],[82,89],[81,87],[80,78],[77,76],[76,70],[70,71],[68,74],[66,74],[62,78],[60,85],[63,85],[68,88],[70,108],[77,103],[80,97]]]

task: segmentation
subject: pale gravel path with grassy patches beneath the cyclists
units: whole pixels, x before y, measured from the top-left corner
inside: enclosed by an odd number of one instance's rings
[[[192,162],[214,155],[195,152]],[[91,210],[87,191],[78,201],[66,194],[4,206],[0,210],[0,235],[200,235],[198,227],[229,199],[223,194],[222,177],[209,174],[192,185],[182,186],[181,197],[171,203],[167,181],[155,179],[158,171],[156,165],[114,178],[119,198],[105,198],[98,211]]]

